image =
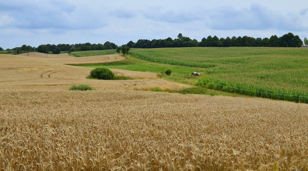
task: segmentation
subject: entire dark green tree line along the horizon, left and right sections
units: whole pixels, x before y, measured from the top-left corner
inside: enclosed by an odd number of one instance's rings
[[[307,38],[304,39],[305,44],[308,44]],[[276,35],[270,38],[253,38],[248,36],[235,37],[232,38],[218,38],[217,36],[208,36],[203,38],[201,42],[196,39],[191,40],[189,37],[184,37],[182,33],[178,34],[177,39],[167,38],[167,39],[153,39],[146,40],[140,39],[136,43],[130,41],[124,46],[130,48],[161,48],[161,47],[301,47],[303,41],[299,36],[294,36],[293,33],[288,33],[282,37]],[[123,46],[123,45],[122,45]],[[7,51],[16,51],[17,53],[23,53],[26,51],[38,51],[42,53],[60,53],[61,51],[88,51],[88,50],[108,50],[117,49],[118,45],[115,43],[105,42],[104,44],[91,44],[91,43],[79,43],[79,44],[41,44],[37,48],[31,47],[29,45],[23,45],[22,47],[15,47],[13,49],[6,49]],[[0,50],[3,50],[0,47]]]

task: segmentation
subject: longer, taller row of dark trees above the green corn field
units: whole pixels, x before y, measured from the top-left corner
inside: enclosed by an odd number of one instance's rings
[[[203,38],[201,42],[189,37],[184,37],[181,33],[177,39],[172,40],[170,37],[167,39],[159,40],[144,40],[140,39],[136,43],[130,41],[126,44],[131,48],[159,48],[159,47],[234,47],[234,46],[251,46],[251,47],[301,47],[303,41],[299,36],[294,36],[292,33],[285,34],[282,37],[276,35],[270,38],[253,38],[248,36],[232,38],[218,38],[217,36],[208,36]]]

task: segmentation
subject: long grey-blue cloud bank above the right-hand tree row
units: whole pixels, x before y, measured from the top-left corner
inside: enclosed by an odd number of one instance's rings
[[[301,15],[307,13],[303,10]],[[149,8],[142,12],[146,19],[166,23],[203,22],[204,27],[217,30],[305,30],[299,14],[284,14],[267,8],[258,3],[250,7],[236,9],[223,6],[212,9],[164,10],[164,8]]]

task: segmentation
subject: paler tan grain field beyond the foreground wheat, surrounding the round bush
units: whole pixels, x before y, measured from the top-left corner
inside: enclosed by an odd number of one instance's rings
[[[29,56],[28,56],[29,55]],[[51,55],[25,53],[22,55],[0,55],[0,87],[2,89],[67,89],[74,84],[88,84],[96,89],[148,90],[181,89],[188,85],[158,79],[155,73],[112,69],[116,75],[134,80],[89,80],[93,68],[66,64],[93,64],[123,60],[118,54],[75,58],[67,54]]]

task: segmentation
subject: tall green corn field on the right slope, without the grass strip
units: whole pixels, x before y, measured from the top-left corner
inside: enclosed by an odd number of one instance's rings
[[[210,83],[308,96],[308,49],[159,48],[132,49],[130,54],[151,62],[204,66],[202,75],[210,79]]]

